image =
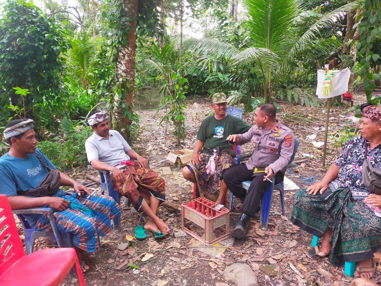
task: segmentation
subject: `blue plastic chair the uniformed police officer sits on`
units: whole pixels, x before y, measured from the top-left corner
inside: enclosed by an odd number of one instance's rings
[[[294,144],[294,150],[291,156],[291,163],[287,165],[286,168],[295,167],[296,164],[293,163],[293,160],[295,158],[296,150],[299,146],[299,140],[295,139]],[[242,156],[237,156],[235,158],[234,164],[240,164],[240,160],[242,159]],[[274,185],[275,178],[273,178],[272,183],[269,185],[269,188],[267,188],[267,191],[264,193],[263,198],[261,200],[261,230],[265,231],[267,230],[267,224],[269,222],[269,215],[270,215],[270,207],[271,207],[271,200],[272,200],[272,193],[274,189],[278,189],[280,192],[280,203],[282,205],[282,214],[285,215],[285,207],[284,207],[284,190],[283,190],[283,181],[277,183]],[[242,187],[245,190],[249,189],[249,186],[251,184],[251,181],[245,181],[242,182]],[[232,207],[233,202],[233,193],[230,192],[230,199],[229,199],[229,209]]]

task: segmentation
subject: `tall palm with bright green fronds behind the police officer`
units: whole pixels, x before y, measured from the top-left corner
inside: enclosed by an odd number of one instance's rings
[[[223,55],[231,66],[253,69],[261,79],[264,102],[269,102],[279,76],[298,51],[317,37],[320,29],[327,27],[336,14],[353,10],[362,2],[348,3],[325,14],[296,38],[302,29],[297,25],[303,11],[301,0],[243,0],[246,11],[243,29],[247,39],[243,49],[215,39],[190,39],[184,47],[202,54]]]

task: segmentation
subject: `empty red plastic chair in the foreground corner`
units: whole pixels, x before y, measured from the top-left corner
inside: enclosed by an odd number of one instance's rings
[[[85,286],[74,248],[42,249],[26,255],[5,195],[0,194],[0,285],[59,285],[74,266]]]

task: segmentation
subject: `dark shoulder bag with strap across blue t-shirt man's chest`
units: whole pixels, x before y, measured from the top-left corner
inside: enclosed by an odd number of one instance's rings
[[[61,175],[56,170],[51,169],[45,164],[40,156],[34,153],[35,156],[40,160],[43,167],[49,170],[48,175],[43,178],[43,180],[38,184],[37,188],[29,189],[27,191],[18,191],[18,194],[29,195],[35,197],[51,197],[54,196],[59,190],[61,185]]]

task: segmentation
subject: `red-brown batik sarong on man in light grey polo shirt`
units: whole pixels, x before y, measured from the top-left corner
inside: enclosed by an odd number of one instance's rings
[[[123,169],[126,175],[124,182],[118,182],[111,174],[111,182],[115,191],[127,197],[139,213],[142,213],[143,201],[150,201],[150,196],[157,198],[159,206],[165,202],[165,181],[152,169],[135,165],[126,165]]]

